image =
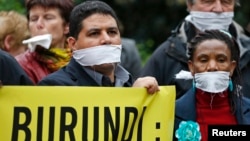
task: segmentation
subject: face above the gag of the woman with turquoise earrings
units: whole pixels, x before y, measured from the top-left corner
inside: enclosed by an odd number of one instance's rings
[[[226,43],[213,39],[197,45],[188,66],[193,75],[212,71],[227,71],[232,75],[236,62],[231,60],[231,51]]]

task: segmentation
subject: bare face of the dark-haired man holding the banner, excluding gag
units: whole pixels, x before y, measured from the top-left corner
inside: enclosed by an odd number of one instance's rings
[[[68,38],[68,45],[73,51],[105,44],[121,44],[117,22],[110,15],[93,14],[87,17],[82,21],[82,29],[78,38]],[[110,76],[114,72],[115,65],[102,64],[93,66],[92,68],[97,72]]]

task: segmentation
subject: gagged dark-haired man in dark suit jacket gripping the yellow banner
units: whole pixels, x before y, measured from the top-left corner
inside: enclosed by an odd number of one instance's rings
[[[85,1],[70,16],[68,45],[73,50],[69,64],[44,79],[39,85],[145,87],[148,93],[159,90],[153,77],[135,82],[120,63],[121,37],[118,18],[102,1]]]

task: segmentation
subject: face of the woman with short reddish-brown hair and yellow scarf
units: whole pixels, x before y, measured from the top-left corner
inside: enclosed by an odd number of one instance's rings
[[[45,8],[35,5],[29,11],[29,29],[31,36],[52,34],[52,47],[65,47],[66,34],[69,32],[57,8]]]

